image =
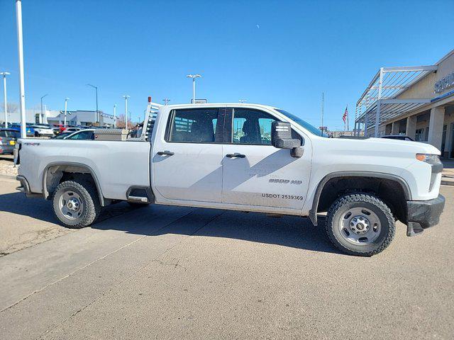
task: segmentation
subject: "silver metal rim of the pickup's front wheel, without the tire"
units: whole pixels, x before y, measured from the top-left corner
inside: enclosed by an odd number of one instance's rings
[[[355,245],[373,243],[380,236],[382,224],[377,214],[367,208],[351,208],[338,223],[341,237]]]

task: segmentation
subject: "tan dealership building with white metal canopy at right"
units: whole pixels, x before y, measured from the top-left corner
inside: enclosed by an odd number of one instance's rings
[[[381,67],[358,99],[355,128],[407,135],[454,158],[454,50],[433,65]]]

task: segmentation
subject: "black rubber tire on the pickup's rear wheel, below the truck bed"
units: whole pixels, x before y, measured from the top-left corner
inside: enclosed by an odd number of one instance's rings
[[[73,193],[80,199],[79,215],[69,217],[62,212],[62,197],[65,193]],[[53,194],[53,208],[55,216],[62,225],[68,228],[79,229],[92,225],[99,217],[101,203],[99,203],[98,192],[93,183],[89,181],[65,181],[59,184]]]

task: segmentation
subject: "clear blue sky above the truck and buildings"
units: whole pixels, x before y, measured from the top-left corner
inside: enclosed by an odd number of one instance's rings
[[[123,111],[147,96],[264,103],[343,128],[381,66],[433,64],[454,48],[454,1],[23,0],[26,107]],[[0,70],[18,103],[15,1],[0,0]]]

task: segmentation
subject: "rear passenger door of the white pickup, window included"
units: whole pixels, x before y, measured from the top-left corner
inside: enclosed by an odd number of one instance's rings
[[[153,145],[157,195],[174,202],[221,202],[224,112],[225,108],[170,112],[165,135],[157,136]]]

